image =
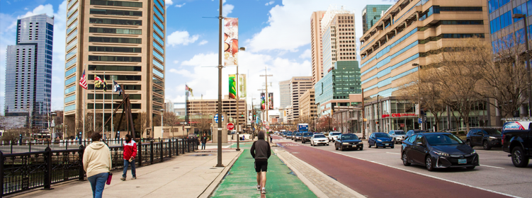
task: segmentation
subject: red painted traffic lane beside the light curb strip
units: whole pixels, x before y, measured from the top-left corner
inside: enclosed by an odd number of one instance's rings
[[[506,197],[409,173],[309,146],[282,142],[285,150],[367,197]],[[292,145],[292,146],[290,146]],[[358,151],[351,151],[358,152]],[[399,161],[400,158],[395,156]],[[423,171],[423,170],[421,170]]]

